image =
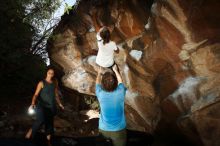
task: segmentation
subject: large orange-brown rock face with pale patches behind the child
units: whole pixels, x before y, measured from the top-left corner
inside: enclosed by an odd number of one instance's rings
[[[95,36],[107,25],[120,48],[115,61],[128,87],[128,128],[153,133],[162,119],[195,143],[217,146],[219,8],[218,0],[81,0],[62,17],[48,52],[62,68],[66,87],[94,95]]]

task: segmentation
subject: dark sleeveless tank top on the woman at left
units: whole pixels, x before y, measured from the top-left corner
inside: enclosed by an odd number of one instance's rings
[[[39,104],[46,108],[55,108],[55,84],[43,80],[43,88],[40,91]]]

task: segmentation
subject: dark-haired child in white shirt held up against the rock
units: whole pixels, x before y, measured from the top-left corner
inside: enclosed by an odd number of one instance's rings
[[[114,52],[119,53],[119,49],[114,41],[111,41],[111,34],[109,29],[102,27],[97,35],[98,55],[96,63],[104,68],[110,68],[115,64]]]

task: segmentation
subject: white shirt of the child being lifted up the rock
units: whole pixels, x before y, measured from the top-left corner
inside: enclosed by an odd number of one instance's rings
[[[113,41],[103,44],[99,32],[96,35],[98,43],[98,55],[96,63],[102,67],[110,67],[114,64],[114,51],[117,50],[117,45]]]

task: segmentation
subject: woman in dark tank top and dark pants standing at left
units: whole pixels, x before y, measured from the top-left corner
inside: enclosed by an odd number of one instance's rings
[[[54,69],[49,67],[45,79],[38,83],[33,95],[29,108],[36,107],[36,120],[25,138],[30,139],[31,137],[35,137],[39,128],[44,124],[48,145],[50,145],[51,136],[54,133],[53,122],[56,114],[56,102],[61,109],[64,109],[58,95],[58,82],[54,78]]]

